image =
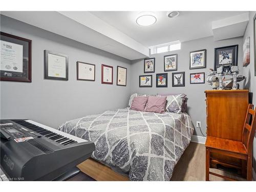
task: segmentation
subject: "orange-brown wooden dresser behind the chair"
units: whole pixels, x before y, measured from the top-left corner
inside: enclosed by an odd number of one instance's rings
[[[207,136],[242,141],[244,120],[248,108],[248,90],[207,90],[206,128]],[[241,165],[241,160],[210,154],[211,167],[217,164]]]

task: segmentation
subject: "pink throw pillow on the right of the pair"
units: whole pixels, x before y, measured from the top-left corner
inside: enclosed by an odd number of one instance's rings
[[[166,97],[149,96],[147,99],[145,111],[154,113],[164,113]]]

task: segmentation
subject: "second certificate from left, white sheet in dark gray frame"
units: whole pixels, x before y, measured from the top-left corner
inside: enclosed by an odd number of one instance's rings
[[[69,56],[45,50],[45,79],[69,80]]]

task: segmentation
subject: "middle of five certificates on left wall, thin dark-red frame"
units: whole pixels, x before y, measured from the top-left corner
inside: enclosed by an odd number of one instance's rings
[[[84,81],[95,81],[95,65],[77,61],[76,79]]]

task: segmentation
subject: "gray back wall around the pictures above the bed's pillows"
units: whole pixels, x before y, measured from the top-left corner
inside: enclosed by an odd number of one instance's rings
[[[181,50],[165,52],[160,54],[153,54],[151,57],[156,58],[155,73],[147,73],[153,75],[152,88],[139,88],[139,75],[143,75],[143,59],[134,60],[131,69],[131,86],[132,93],[141,94],[163,94],[163,93],[185,93],[187,95],[188,114],[191,116],[194,125],[196,121],[201,121],[202,132],[205,135],[206,131],[206,113],[205,113],[205,90],[210,90],[207,82],[205,84],[190,84],[189,74],[198,72],[209,72],[209,68],[214,68],[214,48],[222,46],[230,46],[238,44],[238,65],[242,70],[242,44],[243,37],[232,38],[221,41],[214,41],[213,37],[200,38],[196,40],[182,42]],[[189,70],[189,52],[206,49],[207,50],[207,64],[205,69]],[[169,54],[178,54],[178,71],[185,71],[185,87],[172,87],[172,72],[168,72],[168,88],[156,88],[156,73],[164,72],[163,56]],[[199,129],[195,129],[195,135],[202,136]]]

